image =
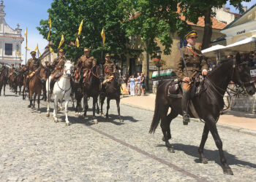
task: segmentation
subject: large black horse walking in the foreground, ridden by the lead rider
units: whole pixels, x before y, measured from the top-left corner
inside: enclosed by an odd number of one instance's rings
[[[206,76],[204,79],[203,86],[205,89],[203,92],[191,99],[193,105],[195,108],[197,108],[197,115],[201,120],[203,119],[205,122],[202,139],[198,149],[200,162],[203,164],[208,163],[206,157],[203,154],[203,149],[208,138],[208,132],[210,131],[216,146],[219,149],[220,162],[222,164],[223,173],[227,175],[233,175],[233,171],[229,165],[227,165],[227,160],[225,159],[225,155],[222,150],[222,141],[219,137],[216,123],[219,119],[219,115],[222,109],[224,108],[225,103],[223,97],[230,81],[233,81],[235,84],[241,86],[248,95],[255,94],[255,84],[252,81],[249,68],[246,65],[246,60],[248,59],[249,56],[246,55],[242,60],[241,55],[237,53],[235,59],[227,60],[227,62],[222,63],[222,65],[214,69],[214,71],[208,74],[208,76]],[[173,146],[170,145],[168,141],[171,138],[170,122],[172,119],[176,118],[178,114],[182,115],[182,110],[181,98],[170,97],[170,95],[168,95],[168,90],[172,83],[173,80],[165,80],[159,82],[155,101],[154,117],[149,133],[154,133],[161,119],[160,126],[163,133],[162,140],[165,141],[165,146],[167,146],[167,149],[169,149],[171,152],[174,152]],[[180,90],[179,94],[181,94]],[[168,108],[171,108],[170,114],[167,114]],[[193,116],[191,111],[189,111],[189,115]]]

